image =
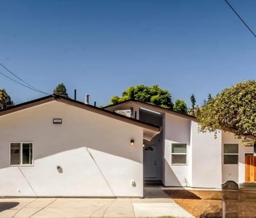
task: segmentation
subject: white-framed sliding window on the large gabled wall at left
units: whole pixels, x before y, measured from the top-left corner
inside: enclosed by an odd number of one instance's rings
[[[33,142],[10,142],[10,165],[33,165]]]

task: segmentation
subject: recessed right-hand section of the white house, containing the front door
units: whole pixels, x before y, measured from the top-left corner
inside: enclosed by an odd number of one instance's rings
[[[193,116],[136,100],[105,109],[121,114],[129,111],[135,119],[162,126],[153,140],[144,140],[144,180],[194,188],[221,188],[228,180],[256,181],[245,164],[246,156],[253,156],[253,146],[244,146],[233,133],[218,131],[214,138],[214,133],[198,132],[198,120]]]

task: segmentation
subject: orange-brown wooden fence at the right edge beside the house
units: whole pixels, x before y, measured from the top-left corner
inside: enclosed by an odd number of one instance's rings
[[[245,155],[245,182],[256,181],[256,157],[253,154]]]

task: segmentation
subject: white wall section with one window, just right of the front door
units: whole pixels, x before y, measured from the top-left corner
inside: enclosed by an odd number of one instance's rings
[[[165,186],[186,186],[191,182],[190,120],[165,114],[164,120],[164,176]],[[187,165],[172,165],[172,143],[187,143]],[[187,182],[186,182],[187,181]]]

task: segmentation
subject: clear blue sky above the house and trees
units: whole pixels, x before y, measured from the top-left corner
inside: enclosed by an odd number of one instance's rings
[[[229,0],[256,31],[256,2]],[[190,106],[255,79],[256,39],[225,1],[1,1],[0,62],[52,93],[107,104],[131,85],[158,84]],[[8,74],[3,68],[1,72]],[[15,103],[43,96],[0,75]]]

